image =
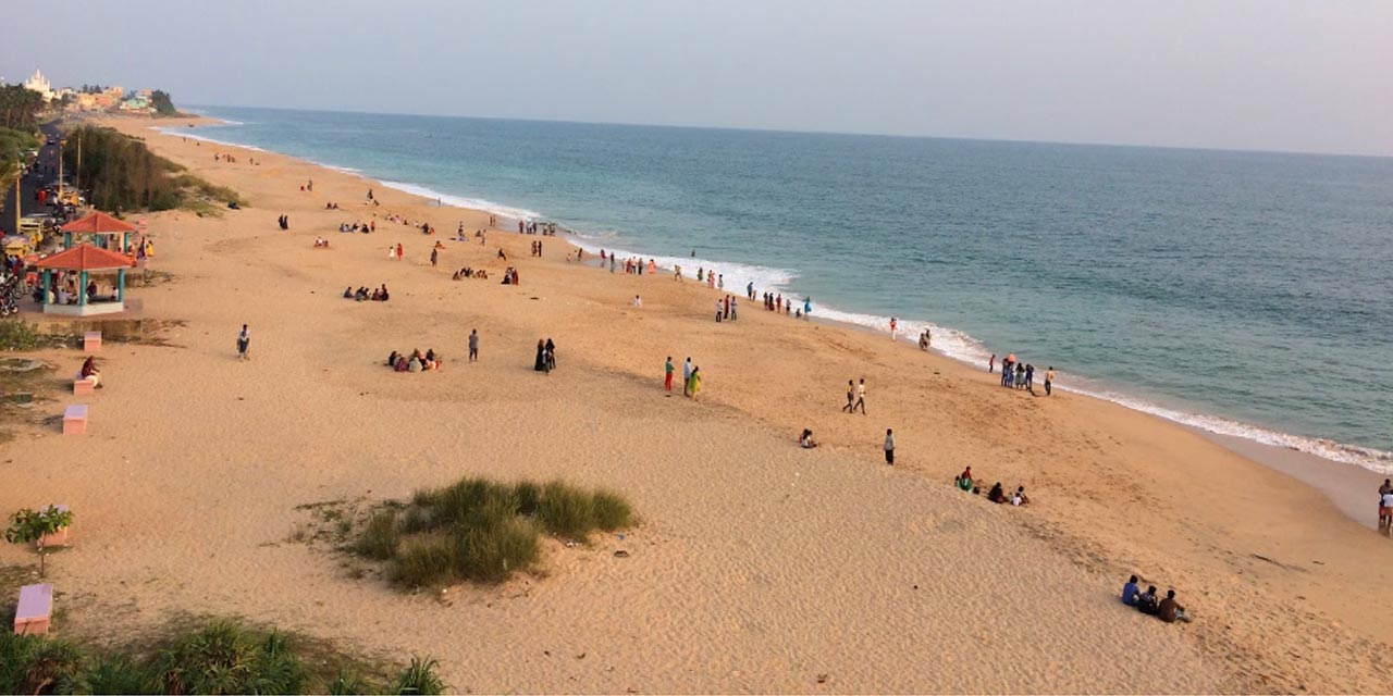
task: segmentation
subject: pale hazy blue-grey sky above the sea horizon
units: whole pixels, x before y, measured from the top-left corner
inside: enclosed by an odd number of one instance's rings
[[[1393,0],[65,0],[0,75],[263,106],[1393,155]]]

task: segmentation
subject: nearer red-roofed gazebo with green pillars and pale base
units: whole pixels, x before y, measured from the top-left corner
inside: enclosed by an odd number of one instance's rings
[[[33,266],[43,273],[45,313],[88,316],[125,310],[125,269],[135,266],[130,256],[79,244],[39,259]],[[111,270],[116,271],[111,294],[98,294],[96,281],[89,280],[89,274]]]

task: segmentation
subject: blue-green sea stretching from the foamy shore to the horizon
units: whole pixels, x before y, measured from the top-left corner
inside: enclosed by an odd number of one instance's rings
[[[198,107],[164,128],[1393,473],[1393,159]]]

